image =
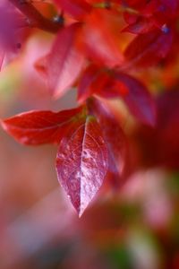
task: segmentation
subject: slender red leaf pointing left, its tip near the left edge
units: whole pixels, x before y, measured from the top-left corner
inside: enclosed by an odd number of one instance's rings
[[[60,112],[30,111],[2,121],[4,130],[19,143],[37,145],[59,143],[72,126],[81,123],[82,108]]]

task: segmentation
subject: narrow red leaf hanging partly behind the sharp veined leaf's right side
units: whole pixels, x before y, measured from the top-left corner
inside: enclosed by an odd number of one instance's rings
[[[101,100],[93,99],[88,102],[90,112],[98,118],[103,137],[108,149],[108,176],[116,186],[121,186],[121,176],[128,155],[126,136],[113,114]],[[110,174],[110,175],[109,175]]]

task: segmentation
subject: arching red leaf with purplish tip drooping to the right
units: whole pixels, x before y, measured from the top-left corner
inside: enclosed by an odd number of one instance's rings
[[[115,72],[97,88],[96,94],[106,99],[121,98],[131,111],[144,124],[156,123],[156,104],[148,89],[129,74]]]

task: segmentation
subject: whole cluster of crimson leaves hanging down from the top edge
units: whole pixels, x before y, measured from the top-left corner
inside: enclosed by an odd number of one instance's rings
[[[12,52],[17,56],[20,45],[33,35],[30,28],[52,32],[52,47],[34,67],[55,98],[76,86],[80,107],[25,112],[1,125],[19,143],[59,144],[57,177],[81,216],[105,178],[121,185],[126,167],[131,169],[129,137],[110,100],[122,100],[150,130],[158,122],[150,78],[142,72],[155,65],[164,74],[162,66],[175,65],[179,4],[177,0],[50,2],[54,21],[43,17],[40,3],[37,10],[28,0],[2,2],[0,65]]]

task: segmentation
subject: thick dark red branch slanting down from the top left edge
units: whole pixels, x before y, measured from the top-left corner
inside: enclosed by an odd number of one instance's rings
[[[45,18],[38,10],[33,6],[33,4],[28,3],[26,0],[9,0],[21,13],[23,13],[28,19],[28,25],[30,27],[35,27],[41,30],[46,30],[49,32],[57,32],[61,27],[63,27],[63,20],[61,21],[50,21]]]

